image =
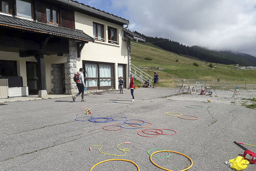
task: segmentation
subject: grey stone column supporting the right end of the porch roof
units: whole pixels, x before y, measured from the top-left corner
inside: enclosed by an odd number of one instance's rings
[[[77,43],[75,40],[69,40],[69,54],[66,54],[67,62],[64,63],[65,70],[65,88],[66,94],[76,94],[77,86],[73,80],[77,73]]]

